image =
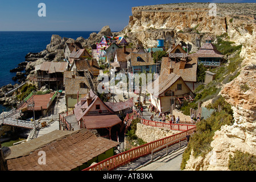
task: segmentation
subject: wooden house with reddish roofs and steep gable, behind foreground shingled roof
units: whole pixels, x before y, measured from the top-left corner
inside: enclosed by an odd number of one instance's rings
[[[121,126],[120,119],[127,113],[131,113],[133,100],[118,102],[116,104],[103,102],[93,90],[90,90],[84,98],[75,105],[73,114],[60,116],[63,130],[86,128],[97,130],[101,136],[113,139],[117,137]]]

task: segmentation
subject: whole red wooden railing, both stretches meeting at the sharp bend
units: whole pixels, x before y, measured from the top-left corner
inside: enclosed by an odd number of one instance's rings
[[[126,121],[128,121],[127,125],[130,124],[132,120],[131,118],[133,118],[134,116],[135,113],[126,115]],[[193,134],[193,132],[196,130],[195,125],[170,124],[148,121],[146,119],[141,119],[141,123],[143,123],[144,125],[150,125],[155,127],[167,127],[172,130],[179,130],[181,131],[181,133],[171,135],[169,137],[158,139],[153,142],[143,144],[142,146],[132,148],[131,150],[122,152],[108,159],[102,160],[101,162],[94,164],[93,166],[90,166],[88,168],[85,168],[82,171],[103,171],[123,167],[142,157],[146,157],[150,154],[152,155],[154,152],[158,152],[163,150],[164,148],[169,148],[175,146],[178,143],[181,143],[186,139],[187,135]]]

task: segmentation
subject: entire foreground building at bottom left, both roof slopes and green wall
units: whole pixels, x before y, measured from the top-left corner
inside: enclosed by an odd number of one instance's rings
[[[7,166],[9,171],[81,171],[115,155],[118,144],[86,129],[54,130],[9,147]]]

